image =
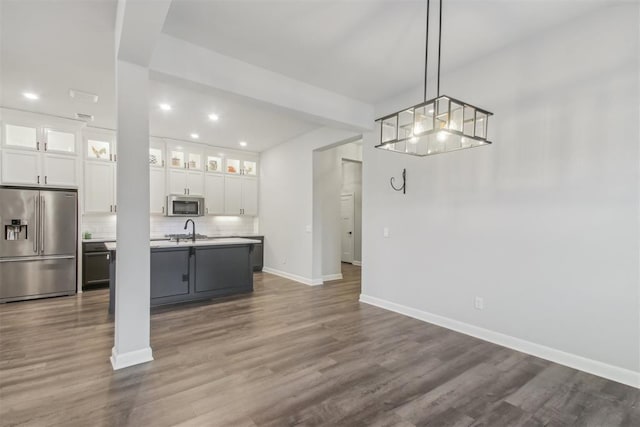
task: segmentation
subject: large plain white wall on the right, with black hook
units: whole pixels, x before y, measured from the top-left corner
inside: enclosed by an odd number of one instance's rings
[[[495,113],[492,146],[413,158],[365,135],[363,299],[638,381],[638,8],[443,75],[444,94]],[[404,167],[406,195],[388,182]]]

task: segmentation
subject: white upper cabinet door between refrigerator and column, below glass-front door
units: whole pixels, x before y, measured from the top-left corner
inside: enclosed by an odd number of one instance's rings
[[[113,163],[85,162],[85,213],[109,213],[115,211],[115,170]]]

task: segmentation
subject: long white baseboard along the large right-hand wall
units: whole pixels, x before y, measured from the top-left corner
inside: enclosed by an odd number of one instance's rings
[[[626,384],[631,387],[640,388],[640,372],[609,365],[593,359],[587,359],[586,357],[578,356],[576,354],[567,353],[562,350],[536,344],[510,335],[505,335],[500,332],[474,326],[469,323],[429,313],[427,311],[396,304],[381,298],[360,294],[360,301],[389,311],[404,314],[405,316],[413,317],[427,323],[442,326],[465,335],[470,335],[484,341],[489,341],[503,347],[531,354],[533,356],[540,357],[541,359],[550,360],[570,368]]]

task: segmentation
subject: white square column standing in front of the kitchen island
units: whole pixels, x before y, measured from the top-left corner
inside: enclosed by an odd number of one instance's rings
[[[149,70],[116,61],[118,127],[113,369],[153,360],[150,340]]]

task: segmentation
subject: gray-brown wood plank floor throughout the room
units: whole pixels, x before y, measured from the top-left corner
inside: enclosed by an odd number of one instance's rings
[[[640,426],[640,391],[309,287],[152,310],[151,363],[112,371],[106,290],[0,305],[0,424]]]

